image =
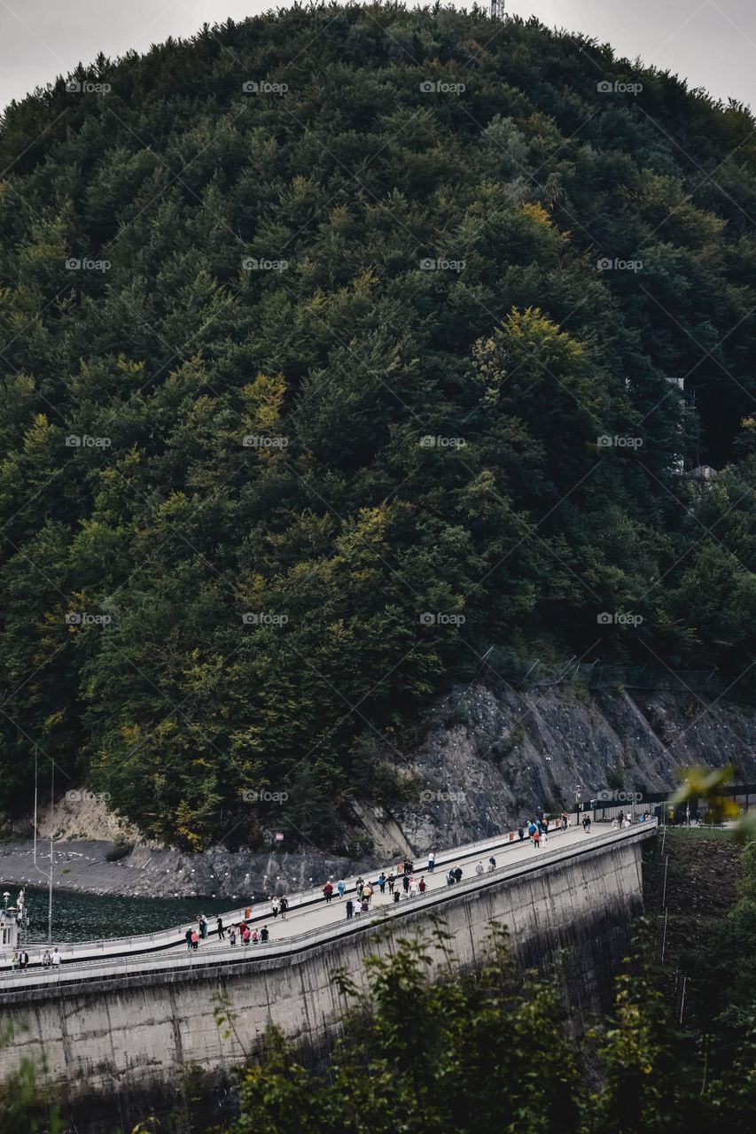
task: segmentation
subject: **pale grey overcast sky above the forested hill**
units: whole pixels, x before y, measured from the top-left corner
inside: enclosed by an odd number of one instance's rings
[[[269,7],[272,0],[0,0],[0,107],[99,51],[145,51],[205,22]],[[506,0],[506,9],[608,41],[691,86],[756,107],[756,0]]]

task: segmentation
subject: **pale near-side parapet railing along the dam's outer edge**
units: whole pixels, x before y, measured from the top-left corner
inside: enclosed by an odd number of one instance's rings
[[[75,984],[96,984],[114,979],[128,979],[129,976],[158,976],[165,972],[180,975],[183,972],[191,973],[196,968],[215,968],[229,964],[249,964],[294,955],[301,951],[303,947],[313,948],[328,940],[341,939],[342,937],[364,932],[369,929],[376,929],[381,923],[390,922],[395,917],[427,909],[435,905],[442,905],[450,898],[482,890],[487,886],[496,885],[510,877],[531,873],[560,860],[590,854],[596,849],[628,838],[649,837],[656,829],[656,821],[648,820],[645,823],[637,823],[624,830],[612,830],[600,835],[591,835],[579,843],[570,844],[569,847],[541,850],[537,857],[496,866],[494,871],[465,879],[453,887],[438,887],[423,895],[402,899],[397,904],[387,904],[381,906],[379,911],[371,912],[368,915],[363,914],[359,919],[351,919],[348,921],[342,919],[329,922],[326,925],[313,926],[301,933],[293,933],[285,940],[267,945],[217,946],[212,950],[205,949],[204,951],[199,950],[196,953],[187,950],[186,954],[177,954],[171,957],[156,957],[151,960],[148,960],[143,955],[126,954],[101,963],[69,962],[65,967],[60,966],[52,970],[37,968],[34,972],[26,970],[24,973],[6,972],[0,975],[0,999],[3,993],[17,993],[25,990],[59,989],[61,985]]]

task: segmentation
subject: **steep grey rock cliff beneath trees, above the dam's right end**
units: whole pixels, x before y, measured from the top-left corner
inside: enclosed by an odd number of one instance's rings
[[[536,809],[571,810],[577,795],[663,792],[677,786],[678,768],[697,763],[732,763],[738,779],[756,780],[756,708],[682,685],[654,693],[478,685],[439,701],[431,719],[410,755],[423,798],[390,814],[369,809],[379,850],[396,845],[396,828],[420,852],[516,827]]]

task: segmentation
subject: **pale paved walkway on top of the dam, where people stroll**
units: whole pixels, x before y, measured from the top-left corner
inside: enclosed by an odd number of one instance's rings
[[[582,827],[571,827],[566,831],[554,831],[551,833],[546,846],[540,849],[537,849],[528,839],[519,841],[515,838],[514,841],[510,841],[510,835],[506,832],[497,838],[439,853],[436,858],[436,869],[432,873],[427,870],[428,860],[423,857],[415,862],[414,878],[415,881],[425,878],[428,888],[425,895],[406,897],[403,889],[401,889],[401,879],[398,879],[397,888],[400,888],[401,897],[400,902],[395,904],[393,896],[388,892],[388,887],[386,887],[384,895],[376,887],[370,904],[370,912],[353,919],[350,924],[356,926],[361,923],[373,922],[377,916],[390,916],[404,908],[409,909],[412,904],[426,904],[429,897],[435,896],[436,900],[447,895],[451,897],[460,889],[467,890],[470,887],[482,886],[488,880],[511,872],[513,868],[516,870],[518,865],[521,866],[523,863],[536,863],[544,860],[544,864],[546,864],[557,850],[562,853],[570,849],[579,852],[587,848],[591,843],[605,845],[607,839],[611,841],[622,839],[623,836],[631,835],[632,831],[639,831],[640,829],[650,835],[650,829],[655,828],[655,826],[654,821],[649,821],[646,823],[636,823],[628,830],[619,831],[614,830],[608,823],[594,823],[590,832],[583,831]],[[496,869],[493,872],[488,872],[488,860],[492,855],[496,858]],[[478,863],[481,863],[484,868],[481,877],[478,877],[476,873]],[[396,863],[393,865],[396,873]],[[447,872],[451,866],[457,865],[462,868],[462,881],[461,883],[450,886],[446,880]],[[385,868],[385,872],[389,872],[388,865]],[[364,878],[373,885],[379,873],[379,870],[366,872]],[[215,919],[210,923],[208,938],[200,942],[198,950],[188,950],[184,940],[184,933],[190,928],[188,923],[185,923],[183,926],[167,929],[163,933],[123,938],[117,941],[103,940],[60,945],[59,950],[62,965],[53,970],[43,970],[40,967],[45,947],[37,945],[33,948],[30,947],[31,966],[26,973],[12,972],[10,968],[10,958],[2,957],[0,960],[0,990],[7,989],[10,991],[10,988],[30,981],[34,984],[40,980],[56,981],[56,979],[60,980],[64,974],[67,981],[77,978],[86,980],[87,974],[91,973],[94,975],[95,968],[98,972],[106,974],[116,970],[125,973],[136,971],[137,967],[144,968],[145,966],[157,964],[162,968],[163,966],[173,965],[216,963],[224,959],[233,959],[234,957],[238,959],[249,957],[252,959],[255,955],[259,956],[263,951],[268,954],[270,949],[275,949],[276,947],[280,950],[282,946],[286,947],[288,945],[291,947],[295,942],[306,940],[311,937],[322,939],[324,934],[328,933],[329,926],[333,926],[333,932],[338,934],[341,932],[339,926],[346,928],[346,899],[352,897],[355,900],[355,879],[345,879],[347,887],[345,897],[339,898],[338,892],[334,890],[334,896],[329,903],[325,900],[320,890],[292,895],[289,897],[289,911],[285,920],[280,915],[278,917],[272,916],[269,903],[253,907],[251,916],[246,920],[251,926],[258,929],[267,925],[269,941],[266,946],[252,943],[244,946],[241,943],[241,940],[237,940],[237,945],[232,948],[228,938],[225,940],[218,939]],[[224,924],[228,928],[232,922],[240,922],[244,919],[244,909],[229,911],[224,915]],[[192,928],[195,926],[193,925]]]

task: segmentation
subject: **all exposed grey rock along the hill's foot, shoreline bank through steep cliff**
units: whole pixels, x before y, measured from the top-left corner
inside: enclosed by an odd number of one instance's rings
[[[434,705],[425,739],[401,764],[402,772],[422,777],[421,798],[384,807],[354,805],[353,822],[375,848],[359,862],[314,849],[252,854],[213,848],[190,855],[138,845],[108,862],[112,843],[91,841],[103,837],[102,816],[96,831],[89,831],[82,811],[69,815],[68,838],[58,844],[56,861],[65,863],[66,872],[57,885],[154,897],[232,898],[309,889],[329,875],[515,828],[536,809],[570,810],[578,792],[583,801],[606,789],[663,792],[675,786],[675,769],[697,763],[732,763],[739,780],[756,781],[756,708],[683,685],[653,693],[473,685]],[[73,832],[78,838],[72,839]],[[33,881],[27,841],[0,848],[6,882]]]

